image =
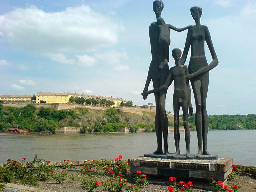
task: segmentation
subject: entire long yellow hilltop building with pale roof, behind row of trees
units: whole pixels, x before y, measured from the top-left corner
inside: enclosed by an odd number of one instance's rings
[[[36,94],[36,103],[40,103],[40,100],[45,101],[46,103],[68,103],[70,97],[83,97],[85,99],[96,99],[100,98],[106,99],[106,100],[112,100],[114,101],[115,107],[119,106],[121,102],[123,101],[124,103],[127,102],[127,100],[124,100],[122,98],[114,98],[114,97],[103,97],[103,96],[98,96],[98,95],[90,95],[90,94],[83,94],[83,93],[72,93],[72,92],[61,92],[61,93],[51,93],[51,92],[37,92]]]

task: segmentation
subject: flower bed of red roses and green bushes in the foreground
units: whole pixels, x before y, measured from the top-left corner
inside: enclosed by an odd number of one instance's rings
[[[25,163],[26,158],[21,162],[8,159],[4,167],[0,167],[0,183],[16,182],[29,186],[38,186],[39,188],[53,191],[174,191],[174,192],[192,192],[206,191],[194,189],[191,181],[184,182],[177,180],[175,177],[169,178],[167,184],[150,184],[146,174],[140,170],[137,174],[132,174],[127,161],[122,160],[122,156],[115,158],[115,161],[86,160],[83,165],[73,165],[70,160],[64,160],[62,166],[54,166],[49,160],[35,159],[32,162]],[[36,166],[35,166],[36,164]],[[234,166],[235,177],[238,171],[242,172],[239,176],[249,170],[253,176],[255,167],[245,168],[244,166]],[[249,173],[248,173],[249,174]],[[232,177],[233,177],[232,176]],[[230,178],[232,180],[232,178]],[[230,181],[229,185],[224,185],[221,181],[210,178],[214,191],[216,192],[233,192],[243,186],[237,186],[235,180]],[[252,179],[255,182],[255,179]],[[252,183],[252,182],[251,182]],[[3,186],[2,186],[3,187]],[[248,188],[248,187],[247,187]],[[256,188],[252,187],[252,189]],[[0,185],[1,189],[1,185]],[[243,191],[243,190],[242,190]]]

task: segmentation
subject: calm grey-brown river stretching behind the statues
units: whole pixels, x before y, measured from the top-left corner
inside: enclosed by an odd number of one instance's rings
[[[191,133],[190,152],[196,154],[196,132]],[[181,153],[185,153],[184,132],[180,132]],[[173,132],[168,135],[169,152],[174,153]],[[219,157],[232,157],[234,164],[256,166],[256,131],[209,131],[208,150]],[[156,133],[0,135],[0,163],[26,157],[61,161],[85,159],[124,159],[142,156],[156,150]]]

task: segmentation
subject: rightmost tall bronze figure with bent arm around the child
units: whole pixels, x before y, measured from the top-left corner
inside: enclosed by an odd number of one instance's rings
[[[207,26],[200,24],[202,8],[191,7],[190,9],[196,25],[188,29],[187,39],[184,47],[184,52],[180,58],[180,63],[184,65],[188,50],[191,46],[191,57],[188,64],[189,75],[187,80],[190,80],[195,102],[196,102],[196,133],[198,140],[198,156],[210,155],[207,150],[207,134],[208,134],[208,114],[206,111],[206,97],[209,85],[209,71],[216,67],[219,63],[215,53],[210,32]],[[212,62],[208,65],[204,53],[204,41],[212,55]]]

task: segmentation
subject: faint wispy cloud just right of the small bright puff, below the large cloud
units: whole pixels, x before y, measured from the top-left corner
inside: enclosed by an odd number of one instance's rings
[[[126,51],[106,51],[104,53],[95,53],[95,57],[100,59],[108,64],[116,65],[122,63],[124,60],[128,60],[129,57]]]

